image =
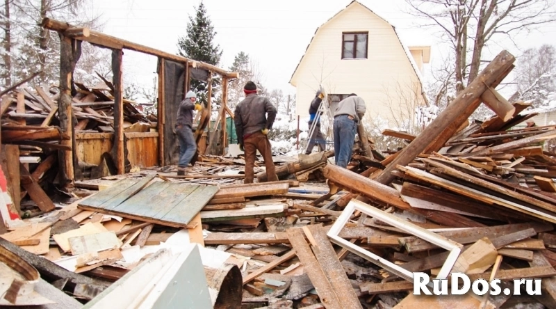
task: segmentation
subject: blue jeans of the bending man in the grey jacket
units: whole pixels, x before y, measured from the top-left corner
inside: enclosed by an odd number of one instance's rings
[[[334,117],[334,161],[337,166],[347,168],[352,159],[353,142],[357,124],[347,115]]]

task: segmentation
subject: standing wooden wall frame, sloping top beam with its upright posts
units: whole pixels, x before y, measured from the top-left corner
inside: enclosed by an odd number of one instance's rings
[[[169,60],[185,65],[186,77],[184,84],[184,95],[190,86],[190,69],[200,68],[208,71],[208,111],[210,112],[212,93],[211,80],[213,74],[222,76],[222,113],[219,115],[224,119],[225,113],[231,111],[227,108],[227,84],[229,79],[237,79],[239,74],[237,72],[228,72],[222,68],[208,63],[194,61],[192,59],[170,54],[167,52],[140,45],[134,42],[115,38],[111,35],[106,35],[97,31],[92,31],[86,27],[77,27],[68,24],[67,22],[60,22],[55,19],[44,18],[42,19],[42,27],[57,31],[60,35],[60,99],[58,100],[58,118],[60,118],[60,128],[62,131],[70,136],[70,140],[63,142],[70,150],[60,150],[60,176],[65,187],[73,187],[74,183],[74,124],[72,124],[72,75],[79,56],[81,55],[81,42],[90,42],[101,48],[112,49],[112,69],[113,69],[113,85],[114,92],[114,148],[113,157],[115,158],[115,165],[117,166],[117,173],[125,173],[125,157],[124,157],[124,132],[123,132],[123,49],[130,49],[143,54],[149,54],[158,57],[159,61]],[[161,65],[161,70],[158,72],[158,164],[164,166],[167,164],[164,157],[164,125],[165,125],[165,93],[164,93],[164,65]],[[209,113],[210,115],[210,113]],[[225,125],[222,127],[222,143],[226,143]],[[215,132],[215,130],[213,131]],[[212,137],[212,136],[211,136]],[[212,138],[211,138],[212,139]]]

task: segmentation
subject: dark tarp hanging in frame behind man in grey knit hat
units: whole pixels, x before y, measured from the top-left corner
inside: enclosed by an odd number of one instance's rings
[[[178,106],[183,100],[186,66],[163,60],[164,63],[164,161],[166,165],[179,161],[179,141],[174,134]]]

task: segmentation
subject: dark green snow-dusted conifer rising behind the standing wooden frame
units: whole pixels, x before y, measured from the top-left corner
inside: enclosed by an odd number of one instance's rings
[[[189,16],[187,35],[178,39],[178,54],[196,61],[218,65],[222,50],[220,45],[214,43],[215,35],[214,26],[201,1],[199,7],[195,8],[195,16]],[[206,82],[191,79],[191,88],[199,93],[200,100],[206,102]]]

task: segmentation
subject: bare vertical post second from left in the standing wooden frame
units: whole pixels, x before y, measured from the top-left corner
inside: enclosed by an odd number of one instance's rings
[[[112,50],[112,83],[114,84],[114,146],[115,161],[118,174],[124,174],[124,80],[122,76],[122,61],[124,51]]]

